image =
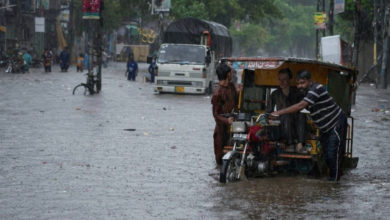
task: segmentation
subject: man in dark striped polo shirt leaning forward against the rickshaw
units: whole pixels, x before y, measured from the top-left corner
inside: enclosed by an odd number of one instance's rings
[[[298,89],[305,93],[303,100],[288,108],[275,111],[272,115],[284,115],[307,108],[313,122],[320,130],[324,159],[329,167],[328,180],[338,181],[341,176],[340,164],[345,152],[347,117],[325,87],[311,80],[309,71],[300,71],[296,80]]]

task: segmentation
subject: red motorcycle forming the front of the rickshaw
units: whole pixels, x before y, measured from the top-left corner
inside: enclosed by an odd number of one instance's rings
[[[235,121],[231,126],[233,147],[222,158],[221,183],[238,181],[244,175],[270,175],[277,166],[286,165],[277,160],[276,152],[282,146],[272,141],[275,129],[269,129],[279,126],[279,120],[270,120],[267,114],[260,114],[256,120],[247,113],[223,116]]]

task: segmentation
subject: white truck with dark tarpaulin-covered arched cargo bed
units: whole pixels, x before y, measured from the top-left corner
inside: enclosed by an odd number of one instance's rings
[[[218,58],[231,51],[229,31],[221,24],[195,18],[171,23],[156,60],[155,92],[211,94]]]

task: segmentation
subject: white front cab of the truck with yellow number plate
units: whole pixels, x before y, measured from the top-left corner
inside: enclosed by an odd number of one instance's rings
[[[206,45],[162,44],[156,61],[156,93],[210,94],[215,78],[215,55]]]

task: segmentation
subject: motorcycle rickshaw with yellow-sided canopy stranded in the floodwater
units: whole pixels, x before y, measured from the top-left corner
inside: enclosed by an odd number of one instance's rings
[[[351,101],[357,72],[336,64],[295,58],[224,58],[221,62],[232,65],[243,85],[231,126],[231,145],[224,146],[220,182],[239,180],[246,176],[267,176],[278,172],[293,171],[300,174],[322,176],[327,168],[323,160],[319,130],[310,118],[306,118],[305,152],[291,152],[286,140],[280,138],[280,123],[270,120],[265,113],[266,103],[273,90],[279,86],[279,70],[289,68],[295,75],[300,70],[312,73],[312,79],[321,83],[348,117],[347,139],[343,155],[343,169],[355,168],[358,158],[353,152],[353,126]],[[302,111],[301,111],[302,112]],[[230,115],[231,116],[231,115]]]

